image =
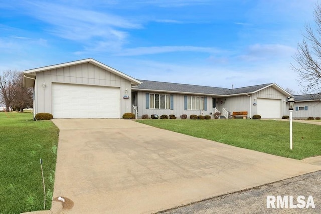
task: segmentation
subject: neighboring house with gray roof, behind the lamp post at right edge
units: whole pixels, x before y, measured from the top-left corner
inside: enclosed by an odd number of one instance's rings
[[[294,119],[307,119],[308,117],[321,117],[321,100],[319,94],[293,95]],[[288,109],[288,105],[286,107]]]

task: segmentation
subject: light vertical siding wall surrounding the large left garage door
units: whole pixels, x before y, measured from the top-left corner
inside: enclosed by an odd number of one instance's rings
[[[45,82],[46,88],[43,89]],[[131,95],[131,82],[110,73],[91,63],[84,63],[79,65],[68,66],[38,72],[36,74],[37,87],[37,112],[52,112],[52,83],[71,83],[83,85],[98,85],[120,88],[120,115],[119,118],[126,112],[131,112],[131,99],[123,99],[125,89],[127,88],[127,95]],[[89,105],[89,103],[84,103]]]

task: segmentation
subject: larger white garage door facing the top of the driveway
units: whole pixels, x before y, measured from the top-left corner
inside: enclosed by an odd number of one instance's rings
[[[52,84],[54,118],[119,118],[120,89],[76,84]]]

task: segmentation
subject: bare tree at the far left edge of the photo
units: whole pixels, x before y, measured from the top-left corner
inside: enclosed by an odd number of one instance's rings
[[[6,105],[6,111],[12,109],[15,98],[15,86],[19,73],[17,71],[7,70],[0,75],[0,102]]]

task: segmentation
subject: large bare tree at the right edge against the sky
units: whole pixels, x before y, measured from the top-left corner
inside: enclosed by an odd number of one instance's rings
[[[298,43],[294,55],[296,65],[292,65],[300,77],[298,80],[305,93],[321,93],[321,6],[314,7],[316,30],[309,24],[305,25],[306,33],[303,41]]]

